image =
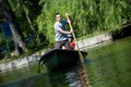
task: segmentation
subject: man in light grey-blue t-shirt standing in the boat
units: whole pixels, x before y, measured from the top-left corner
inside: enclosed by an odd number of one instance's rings
[[[66,25],[69,24],[71,21],[62,20],[59,13],[56,14],[56,23],[53,25],[55,28],[55,48],[57,49],[71,49],[68,35],[71,35],[72,29],[70,32],[66,30]]]

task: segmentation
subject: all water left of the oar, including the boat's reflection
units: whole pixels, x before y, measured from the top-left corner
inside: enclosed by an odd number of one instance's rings
[[[37,73],[36,64],[0,73],[0,87],[85,87],[80,66],[47,73]],[[4,80],[4,77],[8,77]]]

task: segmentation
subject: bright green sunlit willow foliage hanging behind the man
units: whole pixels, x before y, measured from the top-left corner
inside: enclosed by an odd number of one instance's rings
[[[53,44],[56,12],[63,18],[68,12],[72,18],[75,36],[81,37],[96,30],[120,29],[128,3],[121,0],[40,0],[39,5],[43,7],[43,11],[37,17],[38,30]]]

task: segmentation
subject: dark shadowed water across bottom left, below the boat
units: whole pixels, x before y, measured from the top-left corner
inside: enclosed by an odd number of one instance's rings
[[[86,60],[85,62],[88,64],[91,61]],[[36,73],[23,79],[19,79],[21,76],[16,75],[16,77],[17,80],[0,85],[0,87],[85,87],[84,73],[80,65],[53,72]]]

